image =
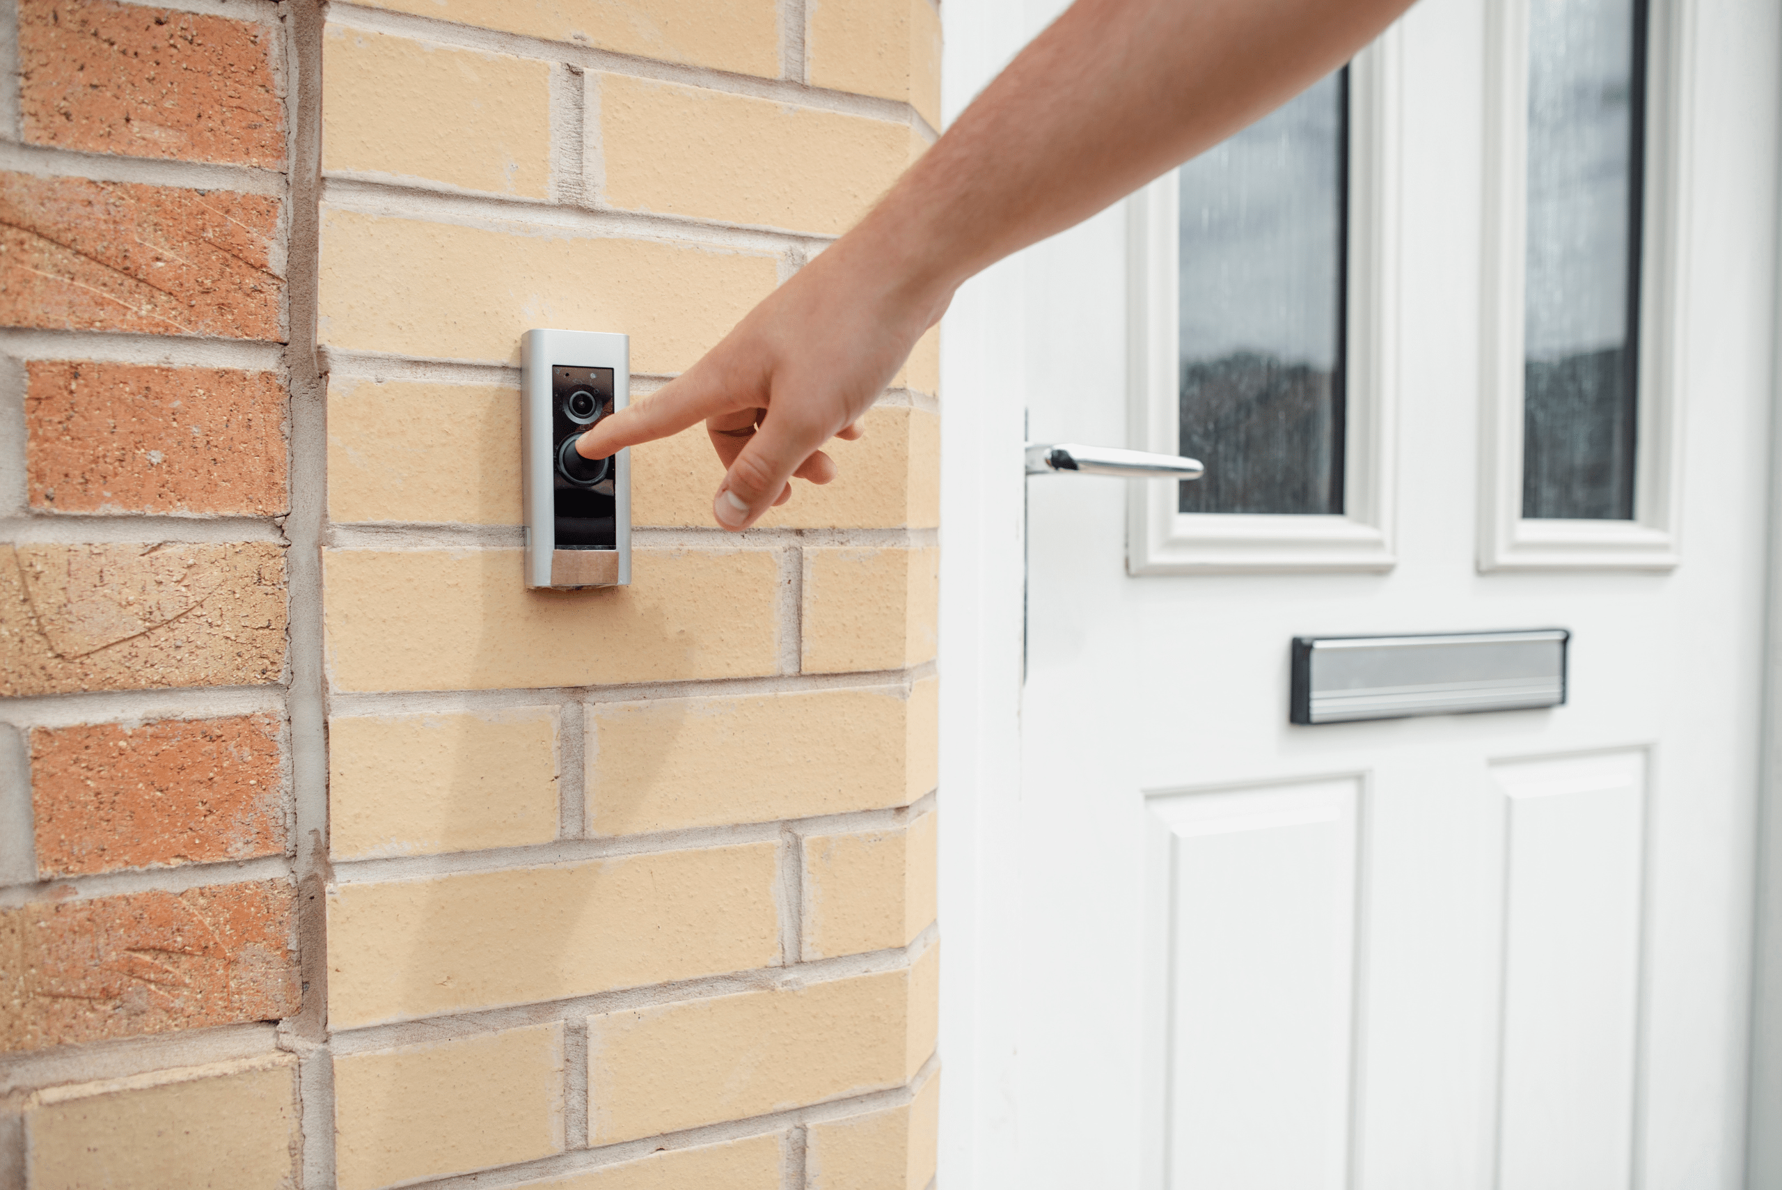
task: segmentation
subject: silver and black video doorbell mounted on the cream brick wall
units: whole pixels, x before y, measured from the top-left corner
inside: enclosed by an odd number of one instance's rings
[[[576,392],[560,399],[563,372],[584,374],[574,381]],[[631,403],[631,337],[604,331],[531,330],[520,338],[520,474],[526,501],[526,586],[584,588],[624,586],[631,583],[631,451],[620,451],[611,465],[588,465],[586,476],[572,477],[560,467],[560,456],[583,428],[617,413]],[[611,387],[609,403],[601,399],[584,408],[588,388]],[[579,401],[572,406],[570,401]],[[563,404],[563,408],[558,408]],[[577,456],[579,458],[579,456]],[[576,458],[568,467],[579,467]],[[563,495],[560,495],[563,493]],[[568,518],[560,533],[560,504],[565,499],[599,502],[611,499],[611,529],[602,517]],[[590,509],[579,509],[586,513]],[[574,540],[577,526],[595,526]],[[570,536],[570,542],[560,542]]]

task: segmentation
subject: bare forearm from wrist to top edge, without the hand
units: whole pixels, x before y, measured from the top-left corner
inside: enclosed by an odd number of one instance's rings
[[[1078,0],[838,255],[882,269],[932,321],[966,278],[1212,148],[1342,66],[1406,7]]]

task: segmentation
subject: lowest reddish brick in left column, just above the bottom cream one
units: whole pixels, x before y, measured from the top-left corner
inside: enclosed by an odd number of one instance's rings
[[[0,1051],[296,1014],[294,903],[266,880],[0,912]]]

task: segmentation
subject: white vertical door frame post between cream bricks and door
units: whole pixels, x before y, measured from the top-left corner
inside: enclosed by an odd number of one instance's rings
[[[946,123],[1026,43],[1018,0],[943,4]],[[1026,566],[1021,257],[941,331],[941,1149],[937,1181],[1016,1190],[1014,1056]]]

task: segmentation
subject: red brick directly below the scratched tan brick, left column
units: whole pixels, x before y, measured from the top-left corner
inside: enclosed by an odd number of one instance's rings
[[[285,853],[278,720],[36,729],[37,875]]]

